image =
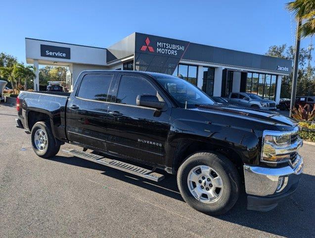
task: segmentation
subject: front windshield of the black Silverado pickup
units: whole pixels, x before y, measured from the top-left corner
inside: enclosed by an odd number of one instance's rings
[[[181,108],[195,108],[200,104],[215,104],[207,94],[191,83],[174,76],[154,76]]]

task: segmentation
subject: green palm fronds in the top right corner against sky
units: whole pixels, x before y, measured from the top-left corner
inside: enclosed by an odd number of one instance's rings
[[[298,36],[306,38],[315,33],[315,0],[296,0],[286,3],[286,8],[293,11],[297,21],[302,25],[298,29]]]

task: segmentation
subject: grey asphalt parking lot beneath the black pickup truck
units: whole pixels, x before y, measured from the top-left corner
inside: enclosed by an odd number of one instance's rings
[[[313,145],[301,150],[297,191],[274,210],[246,210],[243,192],[230,212],[212,217],[182,200],[175,176],[153,182],[61,152],[37,157],[15,117],[0,104],[1,238],[315,237]]]

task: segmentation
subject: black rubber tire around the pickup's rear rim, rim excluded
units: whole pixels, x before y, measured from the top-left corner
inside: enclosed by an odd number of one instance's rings
[[[38,129],[42,129],[45,132],[47,138],[46,147],[43,150],[39,150],[35,145],[35,133]],[[50,124],[45,121],[39,121],[35,123],[32,128],[31,139],[34,152],[42,158],[52,157],[56,155],[60,149],[60,143],[56,142],[52,134]]]

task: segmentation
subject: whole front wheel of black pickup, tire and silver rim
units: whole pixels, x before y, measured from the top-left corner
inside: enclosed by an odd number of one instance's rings
[[[185,202],[209,215],[227,212],[239,196],[240,178],[237,170],[221,154],[193,154],[180,166],[177,182]]]

